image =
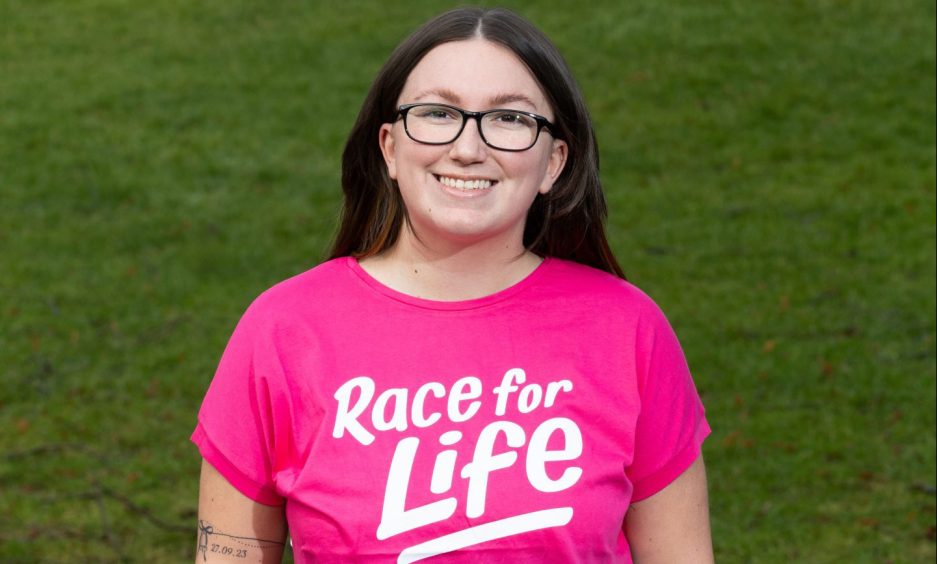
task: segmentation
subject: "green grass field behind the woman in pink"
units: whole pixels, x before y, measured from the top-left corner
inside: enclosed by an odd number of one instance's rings
[[[935,558],[935,6],[505,2],[593,113],[706,403],[720,562]],[[186,561],[240,313],[323,256],[448,3],[0,0],[0,561]]]

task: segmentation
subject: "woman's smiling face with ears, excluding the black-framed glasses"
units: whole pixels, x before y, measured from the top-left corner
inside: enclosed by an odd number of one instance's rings
[[[397,100],[398,106],[413,103],[476,112],[508,108],[554,119],[527,67],[510,50],[485,39],[444,43],[427,53]],[[566,162],[566,144],[546,130],[526,151],[499,151],[482,141],[473,119],[447,145],[413,141],[398,120],[381,127],[380,145],[421,240],[488,241],[512,250],[523,247],[534,197],[550,190]],[[465,186],[457,187],[457,181]]]

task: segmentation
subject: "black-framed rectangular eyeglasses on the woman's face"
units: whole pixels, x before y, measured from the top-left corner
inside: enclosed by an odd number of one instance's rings
[[[540,115],[520,110],[469,112],[447,104],[406,104],[397,108],[407,136],[424,145],[447,145],[458,139],[469,119],[478,123],[482,141],[499,151],[526,151],[554,125]],[[555,136],[555,135],[554,135]]]

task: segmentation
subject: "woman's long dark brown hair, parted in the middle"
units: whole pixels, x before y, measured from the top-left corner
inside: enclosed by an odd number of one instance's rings
[[[480,37],[510,49],[530,69],[554,113],[557,138],[568,155],[553,188],[538,194],[527,213],[524,246],[625,275],[605,235],[608,213],[599,180],[592,121],[572,72],[553,43],[517,14],[504,9],[458,8],[430,20],[404,40],[371,85],[342,156],[342,220],[330,258],[364,258],[394,245],[407,221],[396,183],[378,146],[378,131],[396,117],[407,77],[437,45]]]

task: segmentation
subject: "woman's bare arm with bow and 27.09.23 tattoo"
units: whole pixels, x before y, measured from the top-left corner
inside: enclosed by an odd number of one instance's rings
[[[202,460],[196,563],[279,563],[286,542],[283,506],[257,503]]]

